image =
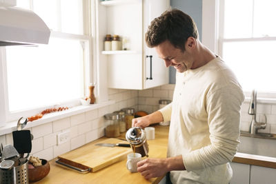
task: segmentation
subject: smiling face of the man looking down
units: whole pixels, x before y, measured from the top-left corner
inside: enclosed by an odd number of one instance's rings
[[[185,50],[175,48],[170,41],[164,41],[155,47],[158,56],[164,59],[166,67],[173,66],[177,72],[185,72],[192,68],[193,60]]]

